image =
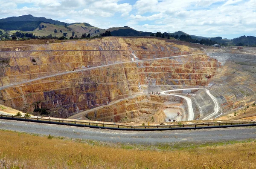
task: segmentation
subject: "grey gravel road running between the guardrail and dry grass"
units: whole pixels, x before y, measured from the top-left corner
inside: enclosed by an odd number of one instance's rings
[[[133,132],[1,119],[0,129],[40,135],[51,134],[61,137],[99,140],[112,143],[205,143],[224,140],[244,140],[249,138],[256,139],[256,127]]]

